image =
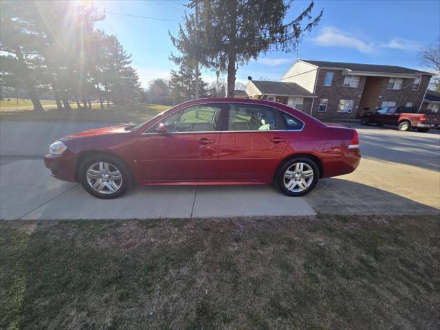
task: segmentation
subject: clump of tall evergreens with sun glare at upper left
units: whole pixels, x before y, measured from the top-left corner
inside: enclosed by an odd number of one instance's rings
[[[115,36],[95,30],[104,18],[93,3],[77,1],[2,1],[0,83],[25,88],[36,111],[37,91],[52,90],[58,109],[80,107],[102,95],[118,104],[134,102],[140,82]],[[63,104],[62,104],[63,103]]]

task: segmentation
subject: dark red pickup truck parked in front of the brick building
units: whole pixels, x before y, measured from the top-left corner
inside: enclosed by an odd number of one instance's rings
[[[394,125],[399,131],[416,128],[419,132],[427,132],[439,127],[439,113],[417,113],[414,107],[382,107],[372,113],[362,115],[362,125],[377,126]]]

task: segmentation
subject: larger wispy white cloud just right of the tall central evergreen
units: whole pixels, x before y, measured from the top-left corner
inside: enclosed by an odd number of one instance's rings
[[[355,36],[331,27],[322,28],[314,41],[325,47],[349,47],[363,53],[372,53],[374,50],[373,44],[366,43]]]

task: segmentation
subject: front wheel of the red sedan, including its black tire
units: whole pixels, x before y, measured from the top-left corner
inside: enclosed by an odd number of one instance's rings
[[[78,179],[90,195],[113,199],[124,195],[131,186],[132,176],[129,168],[118,157],[98,154],[88,157],[80,165]]]

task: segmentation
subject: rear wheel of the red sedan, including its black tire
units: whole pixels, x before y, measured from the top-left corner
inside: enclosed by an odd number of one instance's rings
[[[300,164],[303,164],[302,170]],[[311,177],[305,177],[305,173],[309,175],[310,170],[313,171]],[[287,175],[286,172],[290,173]],[[313,160],[307,157],[293,157],[281,164],[276,171],[275,180],[278,189],[285,195],[299,197],[306,195],[315,188],[319,175],[318,165],[316,165]],[[289,176],[292,176],[292,179],[289,179]],[[296,178],[298,178],[298,180],[296,180]],[[288,188],[289,185],[293,186]]]

